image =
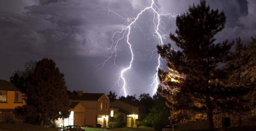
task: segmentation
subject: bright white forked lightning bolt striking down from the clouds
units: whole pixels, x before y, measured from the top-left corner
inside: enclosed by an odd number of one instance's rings
[[[130,63],[129,63],[129,66],[126,67],[126,68],[123,68],[122,71],[120,72],[119,74],[119,78],[118,80],[115,82],[115,85],[112,87],[114,88],[115,86],[119,86],[119,81],[122,79],[123,81],[123,85],[122,85],[122,88],[120,90],[120,93],[122,93],[122,91],[124,92],[125,96],[127,96],[127,92],[126,92],[126,88],[130,88],[127,83],[126,83],[126,79],[124,77],[124,73],[129,70],[131,68],[131,65],[133,63],[133,59],[134,59],[134,54],[133,54],[133,50],[131,48],[131,44],[129,42],[129,36],[130,36],[130,31],[131,31],[131,27],[132,26],[136,26],[136,21],[138,20],[138,18],[141,16],[141,14],[143,14],[143,12],[145,12],[146,10],[152,10],[153,11],[153,15],[154,15],[154,18],[153,18],[153,23],[154,23],[154,29],[155,29],[155,33],[157,35],[157,39],[158,39],[158,45],[164,45],[163,43],[163,40],[162,40],[162,36],[160,33],[163,33],[165,35],[167,35],[166,33],[162,32],[161,30],[159,30],[159,27],[162,28],[162,29],[165,29],[165,23],[161,21],[160,17],[163,16],[163,15],[170,15],[172,17],[176,17],[177,15],[180,15],[180,14],[176,14],[176,15],[172,15],[171,13],[167,13],[167,14],[159,14],[159,7],[155,4],[154,0],[151,1],[151,5],[149,7],[145,7],[143,10],[140,11],[140,13],[137,14],[136,17],[134,18],[125,18],[125,17],[122,17],[121,15],[119,15],[118,13],[116,13],[115,11],[112,11],[112,10],[109,10],[108,12],[108,15],[110,15],[110,13],[113,13],[115,15],[117,15],[118,17],[122,18],[122,20],[125,20],[125,23],[123,24],[122,26],[122,30],[120,31],[117,31],[117,32],[114,32],[112,35],[111,35],[111,41],[112,41],[112,44],[111,44],[111,47],[109,47],[108,49],[106,49],[104,52],[108,51],[108,50],[111,50],[111,55],[105,60],[103,61],[102,63],[96,65],[97,67],[99,67],[98,70],[100,70],[102,67],[104,67],[106,61],[108,61],[109,59],[113,58],[114,60],[114,63],[113,65],[116,65],[116,57],[118,56],[118,52],[117,52],[117,46],[119,44],[119,41],[122,40],[123,38],[127,38],[126,39],[126,43],[127,45],[129,46],[129,49],[130,49],[130,53],[131,53],[131,59],[130,59]],[[157,22],[155,22],[157,21]],[[161,25],[161,22],[164,23],[164,27]],[[126,26],[127,25],[127,26]],[[125,27],[124,27],[125,26]],[[140,28],[140,26],[138,26]],[[140,29],[141,30],[141,29]],[[141,30],[142,31],[142,30]],[[116,37],[116,38],[115,38]],[[174,49],[173,49],[174,50]],[[153,52],[156,51],[153,50],[152,51],[152,54]],[[103,53],[103,52],[102,52]],[[150,59],[152,58],[152,55],[150,57]],[[150,87],[150,90],[153,88],[154,86],[154,89],[153,89],[153,92],[152,94],[154,95],[156,92],[157,92],[157,88],[158,88],[158,69],[161,68],[161,56],[159,55],[158,56],[158,65],[157,65],[157,68],[156,68],[156,73],[155,75],[152,77],[153,78],[153,82],[152,84],[149,85]],[[116,65],[117,66],[117,65]],[[112,89],[111,88],[111,89]],[[119,95],[120,95],[119,93]]]

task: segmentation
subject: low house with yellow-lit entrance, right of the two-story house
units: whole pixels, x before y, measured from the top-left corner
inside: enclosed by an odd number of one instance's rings
[[[115,100],[110,103],[111,114],[113,117],[115,114],[122,114],[123,122],[127,127],[136,126],[136,121],[139,118],[139,104],[128,103],[122,100]]]

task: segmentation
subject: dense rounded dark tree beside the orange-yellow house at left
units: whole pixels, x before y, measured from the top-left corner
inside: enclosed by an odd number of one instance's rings
[[[64,74],[52,59],[44,58],[36,63],[28,77],[26,93],[26,104],[33,107],[41,126],[45,120],[69,117],[71,103]]]

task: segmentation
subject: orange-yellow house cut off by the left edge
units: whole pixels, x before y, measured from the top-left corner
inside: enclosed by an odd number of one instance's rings
[[[0,121],[14,119],[15,107],[25,105],[23,93],[11,82],[0,79]]]

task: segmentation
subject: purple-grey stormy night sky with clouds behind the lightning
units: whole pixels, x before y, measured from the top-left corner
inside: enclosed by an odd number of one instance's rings
[[[199,0],[155,0],[161,13],[183,13],[189,4]],[[129,18],[151,0],[0,0],[0,79],[9,80],[15,70],[23,70],[29,60],[52,58],[65,74],[69,90],[108,93],[118,79],[118,73],[127,67],[131,54],[125,40],[120,41],[118,67],[113,59],[99,70],[95,67],[111,52],[102,53],[111,46],[109,38],[120,31],[123,20],[113,10]],[[241,37],[247,44],[256,36],[256,0],[208,0],[210,6],[224,10],[226,28],[216,36],[218,41]],[[155,49],[152,11],[146,11],[138,19],[138,26],[131,28],[130,43],[134,51],[131,70],[127,71],[127,94],[152,93],[148,85],[155,74],[157,59],[149,61]],[[167,34],[173,32],[175,18],[161,17]],[[143,35],[144,33],[144,35]],[[165,43],[172,43],[163,35]],[[173,45],[173,47],[176,47]],[[153,57],[156,57],[154,53]],[[122,84],[122,82],[120,82]],[[112,91],[120,92],[120,87]],[[123,93],[121,93],[123,95]]]

